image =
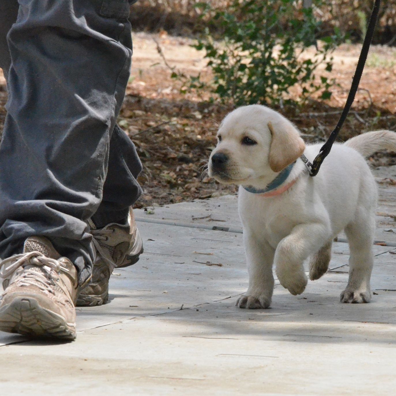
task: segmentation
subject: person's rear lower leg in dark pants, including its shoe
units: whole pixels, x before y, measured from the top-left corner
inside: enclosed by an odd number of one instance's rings
[[[105,304],[113,269],[135,264],[143,253],[142,238],[131,209],[141,194],[136,181],[140,171],[141,162],[135,146],[116,125],[110,140],[103,199],[89,220],[96,259],[91,282],[78,295],[78,306]]]

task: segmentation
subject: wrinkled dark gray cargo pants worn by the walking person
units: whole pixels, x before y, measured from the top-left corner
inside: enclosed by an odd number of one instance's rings
[[[0,145],[0,258],[48,237],[76,265],[86,221],[125,221],[141,162],[116,125],[131,65],[128,0],[0,0],[8,111]]]

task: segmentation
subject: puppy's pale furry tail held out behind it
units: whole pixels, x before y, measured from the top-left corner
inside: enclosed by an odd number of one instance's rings
[[[352,137],[344,143],[354,148],[364,157],[368,157],[378,150],[396,151],[396,133],[392,131],[366,132]]]

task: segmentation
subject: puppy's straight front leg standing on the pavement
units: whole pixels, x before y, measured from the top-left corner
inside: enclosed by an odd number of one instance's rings
[[[268,308],[274,291],[272,263],[275,250],[265,240],[257,240],[252,232],[244,229],[244,247],[249,272],[249,289],[236,306],[239,308]]]

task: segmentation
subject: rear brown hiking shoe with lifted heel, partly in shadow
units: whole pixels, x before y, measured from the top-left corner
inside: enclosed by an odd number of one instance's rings
[[[78,295],[76,305],[94,307],[106,304],[109,299],[109,279],[114,268],[128,267],[139,260],[143,242],[136,227],[132,209],[129,209],[128,224],[110,223],[96,228],[89,220],[96,259],[93,263],[91,283]]]

